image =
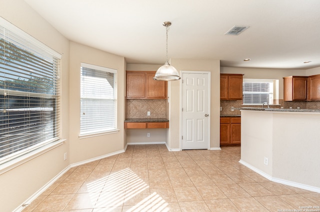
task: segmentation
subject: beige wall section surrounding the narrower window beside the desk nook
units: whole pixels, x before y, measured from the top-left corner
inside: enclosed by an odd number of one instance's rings
[[[117,70],[117,128],[118,132],[79,138],[80,133],[80,63],[94,64]],[[70,42],[69,82],[69,155],[70,163],[123,150],[124,133],[124,57],[86,45]]]

